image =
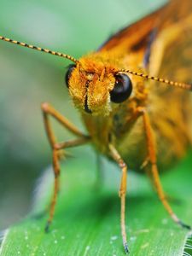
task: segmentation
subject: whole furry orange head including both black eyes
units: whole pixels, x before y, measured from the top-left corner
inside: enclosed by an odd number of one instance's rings
[[[131,95],[131,80],[119,73],[119,63],[113,59],[107,53],[95,53],[69,67],[67,85],[77,108],[93,115],[108,115],[110,102],[125,102]]]

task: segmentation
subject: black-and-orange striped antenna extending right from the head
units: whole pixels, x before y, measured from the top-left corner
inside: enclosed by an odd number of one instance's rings
[[[153,77],[153,76],[149,76],[148,74],[134,72],[134,71],[131,71],[129,69],[119,69],[119,72],[131,73],[132,75],[142,77],[143,79],[151,79],[151,80],[154,80],[154,81],[158,81],[160,83],[169,84],[169,85],[179,87],[179,88],[182,88],[182,89],[185,89],[185,90],[192,90],[192,84],[178,83],[178,82],[174,82],[174,81],[171,81],[171,80],[168,80],[168,79],[160,79],[160,78],[156,78],[156,77]]]

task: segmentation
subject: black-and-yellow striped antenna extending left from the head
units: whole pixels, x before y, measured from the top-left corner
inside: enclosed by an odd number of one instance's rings
[[[42,52],[45,52],[45,53],[49,53],[50,55],[56,55],[56,56],[59,56],[59,57],[68,59],[69,61],[73,61],[73,62],[75,62],[75,63],[78,63],[78,62],[79,62],[78,60],[76,60],[75,58],[73,58],[73,57],[70,56],[70,55],[66,55],[66,54],[63,54],[63,53],[60,53],[60,52],[57,52],[57,51],[53,51],[53,50],[50,50],[50,49],[40,48],[40,47],[34,46],[34,45],[32,45],[32,44],[22,43],[22,42],[19,42],[19,41],[16,41],[16,40],[12,40],[12,39],[10,39],[10,38],[5,38],[5,37],[2,37],[2,36],[0,36],[0,40],[3,40],[3,41],[5,41],[5,42],[9,42],[9,43],[11,43],[11,44],[18,44],[18,45],[23,46],[23,47],[26,47],[26,48],[36,49],[36,50],[38,50],[38,51],[42,51]]]

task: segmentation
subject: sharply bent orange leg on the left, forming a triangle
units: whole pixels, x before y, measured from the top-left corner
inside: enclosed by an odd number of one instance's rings
[[[45,131],[49,139],[50,147],[52,148],[53,171],[55,176],[54,193],[53,193],[50,208],[49,208],[49,219],[45,226],[45,231],[48,231],[49,225],[51,224],[52,219],[54,217],[55,204],[56,204],[57,194],[59,190],[61,150],[64,148],[71,148],[71,147],[83,145],[84,143],[88,143],[90,142],[90,137],[84,135],[81,131],[79,131],[79,129],[76,128],[75,125],[69,122],[64,116],[61,115],[61,113],[57,112],[55,108],[53,108],[48,103],[45,102],[42,104],[42,111],[44,116]],[[75,135],[78,138],[67,141],[67,142],[58,143],[55,138],[55,134],[52,129],[52,126],[50,125],[49,116],[52,116],[54,119],[60,122],[61,125],[67,128],[68,131],[71,131],[73,135]]]

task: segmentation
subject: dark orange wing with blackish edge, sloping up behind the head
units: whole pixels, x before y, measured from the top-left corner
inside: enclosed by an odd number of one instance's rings
[[[99,50],[114,50],[124,55],[128,52],[142,53],[146,67],[151,54],[151,46],[160,32],[189,15],[191,9],[191,0],[183,0],[182,3],[180,0],[172,0],[154,13],[114,34],[102,44]]]

